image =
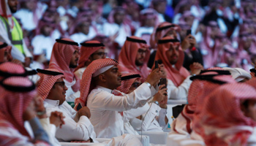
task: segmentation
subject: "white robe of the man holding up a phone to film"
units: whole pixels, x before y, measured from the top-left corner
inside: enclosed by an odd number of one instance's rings
[[[87,106],[91,111],[91,123],[99,138],[118,137],[124,134],[121,114],[132,108],[143,107],[151,99],[151,90],[146,83],[124,96],[115,96],[108,88],[97,86],[88,96]]]

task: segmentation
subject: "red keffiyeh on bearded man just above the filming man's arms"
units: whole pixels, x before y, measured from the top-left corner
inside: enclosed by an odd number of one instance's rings
[[[127,39],[129,38],[136,39],[139,41],[144,41],[140,37],[132,36],[132,37],[128,37]],[[136,55],[138,53],[138,50],[142,47],[146,47],[147,50],[146,50],[146,57],[144,60],[144,64],[143,66],[140,67],[135,65],[135,60],[136,60]],[[150,73],[150,69],[148,69],[148,66],[147,66],[149,56],[150,56],[150,52],[148,49],[148,45],[146,45],[146,41],[145,43],[143,43],[143,42],[132,42],[132,41],[126,40],[118,56],[118,62],[119,62],[118,69],[120,69],[120,72],[122,73],[135,72],[137,74],[140,74],[140,76],[143,77],[144,79],[146,79],[146,77],[148,77],[148,74]],[[140,70],[138,69],[138,67],[140,67]]]

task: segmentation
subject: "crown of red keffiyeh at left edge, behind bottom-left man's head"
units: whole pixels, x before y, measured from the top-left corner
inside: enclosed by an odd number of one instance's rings
[[[0,64],[0,80],[10,76],[26,77],[26,75],[26,70],[23,66],[14,64],[12,62]]]

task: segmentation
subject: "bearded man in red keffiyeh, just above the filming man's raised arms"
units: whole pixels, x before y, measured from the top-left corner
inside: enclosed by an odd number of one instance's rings
[[[120,72],[127,74],[134,72],[146,80],[150,69],[147,67],[150,52],[146,41],[140,37],[127,37],[118,58]]]

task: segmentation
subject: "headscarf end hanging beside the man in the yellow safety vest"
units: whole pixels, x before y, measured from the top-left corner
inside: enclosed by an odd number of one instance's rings
[[[0,15],[3,18],[7,18],[10,28],[13,28],[14,22],[12,20],[12,12],[8,5],[8,0],[1,0],[0,3]]]

